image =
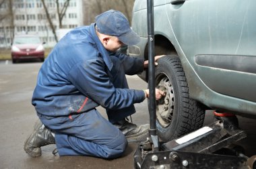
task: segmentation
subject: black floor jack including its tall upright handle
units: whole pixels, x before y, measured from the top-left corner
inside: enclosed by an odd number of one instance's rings
[[[179,3],[179,1],[177,1]],[[246,137],[238,128],[236,116],[215,112],[218,121],[183,137],[160,144],[156,129],[156,99],[154,80],[154,1],[147,1],[148,54],[150,90],[150,129],[146,142],[139,144],[134,158],[135,168],[253,168],[256,156],[248,158],[239,148],[228,148]]]

